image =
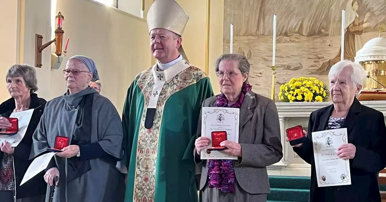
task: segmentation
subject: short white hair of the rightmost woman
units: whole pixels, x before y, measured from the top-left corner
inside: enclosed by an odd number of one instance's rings
[[[362,87],[362,90],[364,82],[366,82],[366,72],[364,71],[364,68],[361,65],[359,65],[358,63],[354,63],[350,60],[339,61],[335,65],[332,65],[332,67],[330,68],[330,72],[328,72],[328,80],[331,80],[332,76],[339,74],[339,72],[342,71],[344,67],[349,67],[351,70],[350,80],[352,82],[352,85],[360,85]],[[356,97],[359,95],[361,90],[356,93]]]

